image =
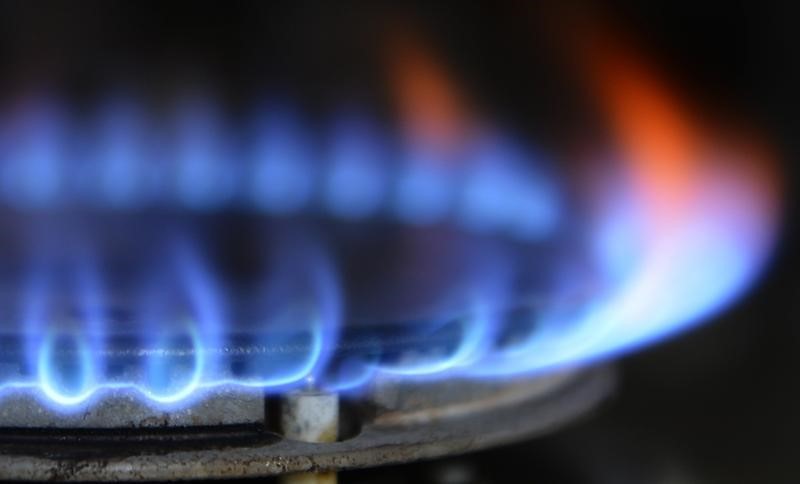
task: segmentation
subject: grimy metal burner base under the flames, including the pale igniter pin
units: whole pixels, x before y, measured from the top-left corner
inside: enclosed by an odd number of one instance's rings
[[[154,412],[136,421],[138,409],[113,398],[49,422],[28,402],[13,401],[4,405],[3,418],[13,415],[18,426],[0,434],[0,478],[176,480],[314,472],[321,479],[326,472],[460,454],[550,432],[595,408],[613,381],[607,368],[595,368],[505,382],[379,381],[362,397],[341,401],[311,390],[266,401],[219,393],[182,412]]]

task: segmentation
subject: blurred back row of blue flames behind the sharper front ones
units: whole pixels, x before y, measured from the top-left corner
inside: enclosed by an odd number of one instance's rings
[[[455,222],[528,240],[562,216],[552,166],[499,131],[444,153],[389,136],[359,109],[322,129],[287,103],[262,103],[237,122],[221,111],[194,96],[156,115],[118,96],[78,116],[33,97],[0,114],[0,201]]]

